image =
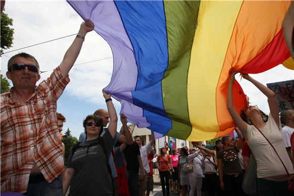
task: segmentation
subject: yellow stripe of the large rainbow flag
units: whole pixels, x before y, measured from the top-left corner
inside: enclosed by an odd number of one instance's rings
[[[193,129],[187,140],[211,139],[219,130],[215,90],[241,5],[242,1],[201,1],[188,73]]]

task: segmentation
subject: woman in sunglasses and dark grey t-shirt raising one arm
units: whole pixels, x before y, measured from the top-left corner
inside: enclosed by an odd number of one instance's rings
[[[83,122],[86,141],[71,149],[69,163],[63,174],[62,185],[65,195],[70,185],[69,195],[113,195],[112,176],[108,159],[117,132],[117,113],[111,95],[103,91],[109,113],[108,128],[103,130],[102,118],[88,115]]]

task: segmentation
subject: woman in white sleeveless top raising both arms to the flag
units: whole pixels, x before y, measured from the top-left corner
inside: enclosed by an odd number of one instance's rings
[[[289,174],[294,170],[287,155],[283,137],[281,135],[281,124],[279,119],[279,107],[276,94],[263,84],[254,80],[248,74],[241,73],[241,76],[251,82],[267,98],[270,114],[267,117],[257,106],[249,106],[241,113],[236,111],[233,105],[233,83],[235,81],[235,71],[230,74],[228,88],[227,107],[239,129],[242,131],[257,163],[258,194],[267,195],[290,195],[287,192],[288,175],[280,159],[285,165]],[[274,151],[269,142],[274,146]]]

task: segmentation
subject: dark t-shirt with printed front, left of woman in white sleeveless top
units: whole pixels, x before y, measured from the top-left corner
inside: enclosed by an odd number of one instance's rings
[[[230,149],[220,150],[217,153],[217,159],[222,159],[223,161],[224,174],[242,173],[238,152],[238,148],[234,146]]]

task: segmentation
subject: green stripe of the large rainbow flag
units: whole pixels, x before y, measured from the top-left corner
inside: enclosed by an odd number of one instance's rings
[[[168,40],[168,68],[162,80],[163,104],[172,119],[168,136],[188,138],[187,78],[200,1],[164,1]]]

